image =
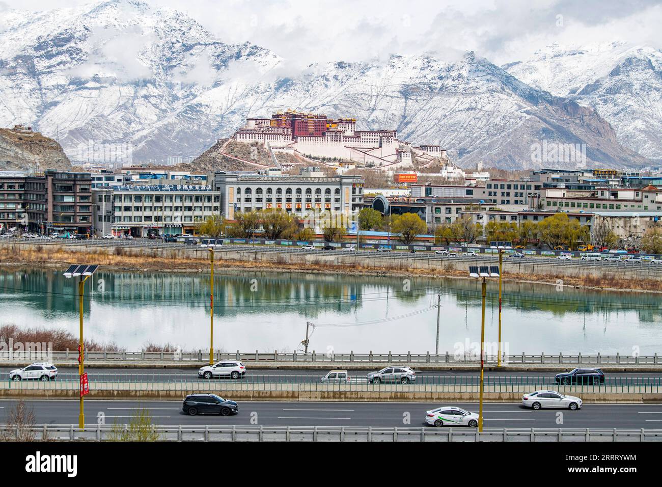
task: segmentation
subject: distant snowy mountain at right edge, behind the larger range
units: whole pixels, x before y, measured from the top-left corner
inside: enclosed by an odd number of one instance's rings
[[[662,52],[627,42],[539,50],[526,62],[504,66],[528,85],[594,108],[618,140],[662,160]]]

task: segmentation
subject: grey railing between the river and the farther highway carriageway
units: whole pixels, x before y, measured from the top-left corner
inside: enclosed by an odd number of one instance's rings
[[[77,351],[0,351],[0,364],[2,362],[26,362],[30,360],[52,360],[62,362],[77,360]],[[486,355],[487,364],[496,364],[498,356]],[[117,352],[117,351],[85,351],[85,362],[200,362],[208,363],[209,352]],[[309,353],[299,352],[215,352],[214,362],[222,360],[241,360],[255,364],[269,364],[286,362],[293,364],[444,364],[444,365],[472,365],[479,364],[479,354],[424,354],[406,353]],[[598,354],[503,354],[502,362],[505,365],[659,365],[662,364],[657,352],[653,355],[602,355]]]

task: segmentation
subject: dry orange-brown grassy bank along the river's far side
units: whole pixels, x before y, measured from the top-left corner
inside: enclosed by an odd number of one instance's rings
[[[221,252],[216,252],[217,257]],[[18,245],[0,246],[0,266],[40,266],[42,268],[62,268],[68,264],[98,264],[101,268],[112,268],[126,272],[209,272],[207,254],[198,256],[193,252],[178,250],[154,250],[150,248],[87,248],[70,250],[62,246],[30,245],[28,248]],[[309,256],[306,256],[309,257]],[[350,263],[324,262],[314,258],[299,259],[291,262],[281,256],[275,260],[245,260],[216,258],[216,270],[263,270],[272,272],[305,272],[307,274],[355,274],[357,276],[402,276],[428,278],[468,278],[466,270],[439,266],[434,268],[412,268],[394,260],[388,264],[370,265],[365,259]],[[352,260],[352,259],[348,259]],[[445,262],[448,263],[448,260]],[[605,290],[619,292],[655,292],[662,293],[662,280],[651,278],[621,278],[613,272],[604,276],[568,275],[567,272],[536,272],[532,280],[530,273],[504,270],[506,282],[530,282],[565,286],[587,290]]]

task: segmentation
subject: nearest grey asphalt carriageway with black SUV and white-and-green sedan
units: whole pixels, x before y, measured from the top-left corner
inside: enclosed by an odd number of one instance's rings
[[[232,399],[232,398],[228,398]],[[0,423],[4,423],[15,400],[0,400]],[[77,424],[77,400],[27,400],[38,424]],[[86,423],[125,423],[138,407],[150,410],[154,424],[193,426],[324,426],[324,427],[422,427],[425,411],[442,404],[432,403],[355,403],[355,402],[240,402],[239,414],[188,416],[179,401],[106,401],[85,402]],[[454,403],[468,411],[478,411],[475,403]],[[559,412],[562,415],[559,415]],[[658,404],[585,404],[581,410],[541,409],[533,411],[520,404],[484,406],[486,428],[662,428],[662,405]],[[407,422],[409,421],[409,422]],[[558,421],[562,421],[559,423]]]

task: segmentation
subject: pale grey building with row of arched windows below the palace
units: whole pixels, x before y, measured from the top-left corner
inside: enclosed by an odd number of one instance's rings
[[[350,215],[363,207],[363,179],[358,176],[324,176],[303,169],[299,176],[278,171],[269,174],[216,172],[214,189],[220,191],[221,213],[228,219],[238,211],[284,209],[297,217],[310,211],[336,211]]]

